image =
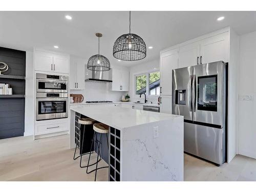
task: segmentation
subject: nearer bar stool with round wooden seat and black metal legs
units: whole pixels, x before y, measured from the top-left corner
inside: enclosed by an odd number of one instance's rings
[[[89,159],[88,159],[86,173],[90,174],[90,173],[95,171],[94,181],[96,181],[97,170],[100,169],[100,168],[108,168],[109,167],[109,166],[104,166],[104,167],[99,167],[98,168],[99,155],[100,155],[100,146],[102,146],[102,134],[106,135],[106,144],[108,145],[108,150],[109,150],[109,139],[108,139],[109,126],[105,125],[103,123],[94,123],[93,124],[93,130],[94,130],[93,142],[92,142],[92,145],[91,145],[91,150],[90,150],[91,152],[90,152]],[[97,133],[100,134],[99,140],[97,139],[97,135],[96,135]],[[92,150],[93,150],[92,147],[93,147],[94,142],[96,142],[97,146],[98,146],[98,156],[97,156],[97,161],[96,161],[96,168],[91,170],[90,172],[88,172],[88,167],[89,167],[89,163],[90,163],[91,153],[92,153]]]

